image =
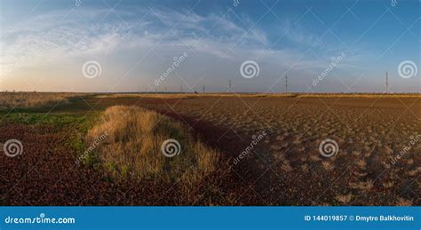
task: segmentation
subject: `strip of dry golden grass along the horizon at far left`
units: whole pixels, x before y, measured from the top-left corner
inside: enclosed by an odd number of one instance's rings
[[[67,101],[71,92],[0,92],[0,109],[12,107],[41,107]]]

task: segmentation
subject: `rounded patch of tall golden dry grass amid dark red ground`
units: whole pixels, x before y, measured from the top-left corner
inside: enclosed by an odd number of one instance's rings
[[[193,186],[215,171],[218,152],[195,140],[185,126],[140,107],[108,107],[99,123],[88,132],[92,144],[106,138],[96,149],[99,162],[114,178],[151,178],[172,181],[181,178],[183,186]],[[179,155],[166,157],[163,141],[177,139]]]

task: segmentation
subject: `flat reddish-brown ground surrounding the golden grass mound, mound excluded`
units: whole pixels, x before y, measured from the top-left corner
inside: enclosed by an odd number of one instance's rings
[[[115,105],[184,123],[229,170],[186,196],[177,179],[115,180],[76,165],[86,132]],[[421,205],[419,97],[91,94],[0,115],[0,142],[24,147],[0,157],[2,205]],[[336,155],[321,155],[325,139],[338,143]]]

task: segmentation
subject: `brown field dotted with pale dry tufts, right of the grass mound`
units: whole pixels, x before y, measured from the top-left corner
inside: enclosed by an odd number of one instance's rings
[[[260,204],[420,203],[419,142],[391,165],[421,134],[417,98],[208,98],[147,107],[209,121],[249,143],[266,131],[236,165],[250,161],[257,167],[258,175],[240,177],[250,193],[259,194]],[[338,155],[319,153],[323,139],[338,142]]]

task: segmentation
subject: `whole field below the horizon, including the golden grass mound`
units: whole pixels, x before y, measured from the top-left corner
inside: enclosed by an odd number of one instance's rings
[[[0,142],[20,140],[23,151],[0,157],[0,204],[420,205],[420,98],[131,93],[9,103]],[[179,140],[179,155],[162,155],[165,139]]]

